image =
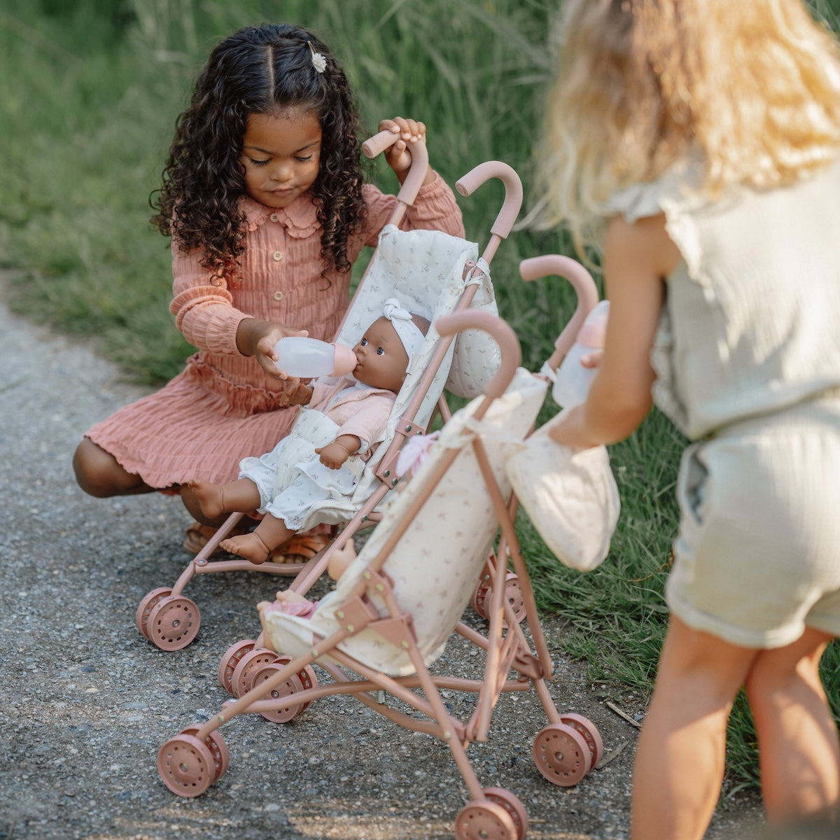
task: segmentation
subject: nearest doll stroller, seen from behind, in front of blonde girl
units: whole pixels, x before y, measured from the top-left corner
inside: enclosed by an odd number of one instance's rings
[[[466,754],[468,743],[488,739],[503,692],[536,691],[549,722],[533,741],[533,759],[550,782],[575,785],[600,761],[596,727],[559,713],[549,695],[552,664],[513,528],[515,500],[505,472],[506,446],[533,428],[546,380],[517,367],[519,345],[501,319],[468,311],[438,320],[442,335],[468,327],[487,330],[501,347],[501,366],[485,394],[444,425],[427,459],[402,491],[389,496],[380,524],[312,617],[265,612],[265,635],[284,654],[265,650],[270,659],[263,664],[237,666],[234,681],[247,689],[239,699],[162,745],[160,778],[177,795],[201,795],[227,771],[228,748],[218,732],[224,722],[245,712],[288,722],[318,698],[339,694],[448,745],[469,792],[455,818],[459,840],[522,840],[528,830],[522,801],[508,790],[482,788]],[[507,545],[519,576],[533,650],[503,596],[505,564],[495,565],[486,636],[459,620],[500,524],[500,547]],[[452,633],[484,652],[483,679],[433,673]],[[313,665],[331,681],[319,684]],[[444,689],[475,693],[469,720],[449,713]]]

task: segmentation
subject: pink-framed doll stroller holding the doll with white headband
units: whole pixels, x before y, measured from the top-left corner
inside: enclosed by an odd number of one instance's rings
[[[381,132],[362,148],[366,155],[374,157],[392,144],[395,136]],[[438,231],[402,231],[396,227],[417,196],[428,167],[428,153],[423,144],[417,144],[412,154],[412,167],[397,195],[395,211],[381,233],[375,254],[339,328],[336,340],[343,344],[355,344],[368,323],[381,313],[381,304],[388,297],[398,298],[404,307],[430,322],[470,306],[496,311],[489,263],[501,239],[510,233],[522,204],[522,184],[517,174],[505,164],[490,161],[476,166],[456,185],[465,196],[491,177],[500,178],[505,186],[505,199],[491,228],[491,239],[479,257],[478,246],[463,239]],[[326,570],[330,554],[343,548],[359,528],[375,522],[376,507],[396,486],[394,465],[405,440],[427,431],[436,407],[444,418],[449,416],[442,398],[444,387],[457,396],[476,396],[498,361],[496,345],[486,340],[486,333],[474,330],[454,340],[453,337],[444,339],[430,328],[397,395],[385,438],[367,462],[350,503],[320,507],[302,528],[305,531],[318,522],[346,523],[339,538],[306,564],[269,562],[256,566],[241,558],[211,560],[218,544],[243,517],[234,513],[187,565],[175,585],[156,588],[142,598],[135,613],[139,632],[162,650],[179,650],[192,643],[201,624],[201,614],[196,603],[183,592],[196,575],[228,571],[297,575],[290,588],[305,594]],[[298,417],[297,423],[300,421]]]

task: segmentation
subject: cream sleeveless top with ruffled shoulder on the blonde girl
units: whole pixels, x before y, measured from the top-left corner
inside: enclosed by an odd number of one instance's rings
[[[840,158],[793,185],[704,201],[672,174],[617,193],[680,249],[651,362],[691,439],[840,387]]]

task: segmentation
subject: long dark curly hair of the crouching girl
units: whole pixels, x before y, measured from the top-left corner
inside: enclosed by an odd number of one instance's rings
[[[310,46],[311,45],[311,46]],[[312,51],[327,59],[323,73]],[[312,193],[322,228],[324,272],[350,269],[348,239],[365,219],[357,136],[359,116],[344,71],[307,29],[264,24],[219,43],[199,74],[190,107],[176,120],[163,186],[150,197],[151,221],[181,247],[204,251],[202,265],[235,277],[244,253],[245,194],[239,162],[251,114],[305,108],[321,124],[321,158]]]

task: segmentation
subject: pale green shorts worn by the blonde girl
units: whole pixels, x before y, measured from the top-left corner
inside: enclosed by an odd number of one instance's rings
[[[727,428],[683,454],[671,612],[746,648],[840,636],[840,402]]]

